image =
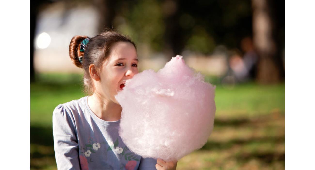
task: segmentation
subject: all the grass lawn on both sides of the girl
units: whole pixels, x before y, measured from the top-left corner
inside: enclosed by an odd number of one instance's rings
[[[81,80],[78,74],[41,74],[31,83],[31,169],[56,169],[52,112],[84,96]],[[179,160],[177,169],[284,169],[284,83],[216,84],[215,102],[208,142]]]

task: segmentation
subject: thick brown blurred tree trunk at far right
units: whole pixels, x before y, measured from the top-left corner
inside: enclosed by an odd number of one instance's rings
[[[274,83],[280,81],[277,61],[277,44],[272,37],[272,18],[266,0],[252,0],[254,46],[259,56],[257,81]]]

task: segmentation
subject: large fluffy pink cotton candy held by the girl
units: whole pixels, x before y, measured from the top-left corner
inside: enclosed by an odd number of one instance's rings
[[[215,86],[173,57],[155,73],[144,70],[115,96],[122,106],[119,135],[147,158],[179,160],[200,149],[213,130]]]

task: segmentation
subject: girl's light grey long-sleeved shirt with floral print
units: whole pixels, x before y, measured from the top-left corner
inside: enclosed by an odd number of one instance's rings
[[[131,152],[118,135],[120,120],[107,122],[89,108],[87,97],[58,105],[53,112],[58,169],[156,169],[156,159]]]

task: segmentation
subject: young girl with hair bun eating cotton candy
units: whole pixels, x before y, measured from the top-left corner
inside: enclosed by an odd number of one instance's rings
[[[138,73],[135,43],[114,32],[75,36],[72,62],[84,70],[88,96],[58,105],[53,112],[58,169],[176,169],[177,161],[142,158],[118,135],[122,107],[115,99],[124,81]]]

